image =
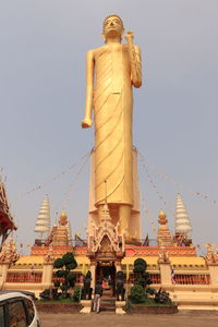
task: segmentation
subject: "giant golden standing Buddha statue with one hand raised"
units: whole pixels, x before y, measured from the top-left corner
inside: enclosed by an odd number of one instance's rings
[[[132,86],[142,85],[140,47],[133,33],[121,44],[123,22],[118,15],[105,19],[105,46],[87,52],[86,106],[82,128],[95,119],[95,206],[100,216],[104,203],[118,208],[121,232],[129,233],[133,204]],[[95,82],[94,82],[95,81]],[[106,192],[107,182],[107,192]],[[107,195],[106,195],[107,193]]]

